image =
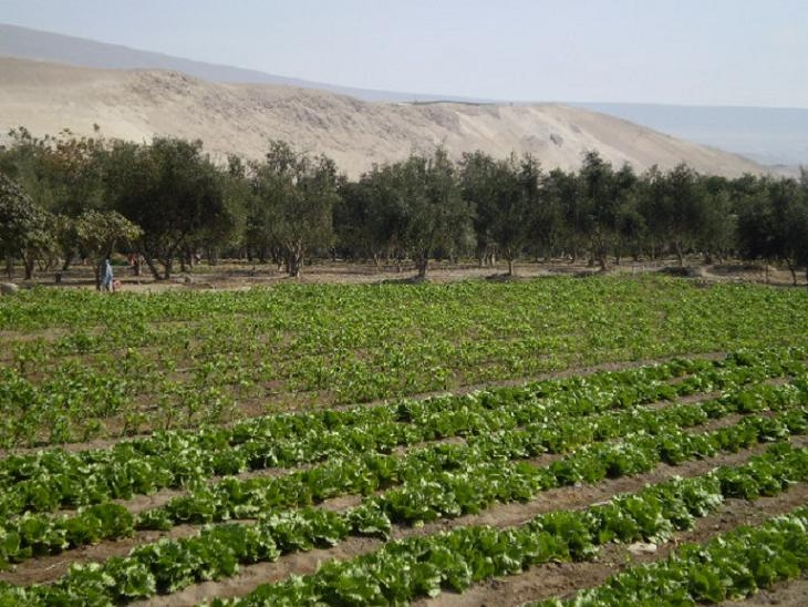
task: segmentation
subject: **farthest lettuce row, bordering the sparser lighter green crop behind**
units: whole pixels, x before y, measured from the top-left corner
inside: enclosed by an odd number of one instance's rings
[[[773,367],[770,372],[740,367],[737,381],[732,374],[721,381],[733,385],[783,373],[783,369]],[[682,364],[671,368],[681,369]],[[605,374],[602,383],[569,380],[559,385],[557,381],[373,410],[273,416],[244,422],[232,429],[203,429],[193,434],[157,433],[152,439],[120,443],[105,451],[70,454],[54,450],[10,456],[0,462],[0,481],[8,487],[0,510],[12,515],[130,498],[133,494],[148,494],[164,487],[193,485],[217,474],[299,465],[356,452],[389,452],[401,444],[490,432],[541,416],[571,416],[614,405],[631,407],[653,402],[662,395],[675,399],[698,390],[697,385],[690,384],[674,389],[655,379],[643,388],[636,380],[644,373],[664,375],[664,371],[652,368],[628,375],[625,372]],[[714,388],[715,373],[712,375],[700,377],[704,391]],[[634,383],[626,385],[626,381]],[[536,402],[542,397],[550,397],[546,408]],[[511,414],[501,415],[500,409]]]

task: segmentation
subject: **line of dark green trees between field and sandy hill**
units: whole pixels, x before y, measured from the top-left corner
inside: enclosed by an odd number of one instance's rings
[[[96,133],[97,135],[97,133]],[[216,164],[200,141],[34,137],[0,147],[0,248],[11,272],[134,254],[155,278],[200,255],[276,263],[480,265],[564,256],[607,268],[624,258],[727,257],[785,265],[808,279],[808,172],[800,178],[702,175],[681,164],[638,174],[588,152],[576,172],[530,155],[431,155],[374,165],[356,179],[324,155],[276,141],[260,161]],[[96,264],[97,265],[97,264]]]

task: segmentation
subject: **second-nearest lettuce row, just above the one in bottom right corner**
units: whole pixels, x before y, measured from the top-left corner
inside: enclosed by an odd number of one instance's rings
[[[676,529],[692,527],[735,495],[731,479],[748,479],[745,494],[775,495],[794,480],[806,480],[808,452],[780,445],[742,469],[721,469],[704,477],[672,480],[639,494],[617,496],[586,511],[558,511],[507,529],[459,527],[434,536],[389,543],[350,562],[325,563],[317,574],[266,585],[245,605],[291,603],[377,604],[434,596],[442,589],[465,589],[494,576],[511,575],[555,560],[588,560],[611,541],[661,543]],[[783,457],[781,461],[778,460]],[[727,494],[728,492],[728,494]],[[402,575],[406,572],[406,575]]]

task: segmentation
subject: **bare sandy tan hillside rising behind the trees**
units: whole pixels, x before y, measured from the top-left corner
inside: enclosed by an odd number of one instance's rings
[[[579,165],[595,148],[638,169],[687,162],[704,173],[739,175],[762,168],[707,148],[586,110],[557,104],[367,103],[310,89],[218,84],[166,71],[74,68],[0,59],[0,131],[64,127],[90,135],[148,141],[154,135],[201,138],[216,158],[260,157],[273,138],[333,157],[356,176],[373,163],[444,145],[458,157],[484,150],[497,157],[529,152],[546,168]]]

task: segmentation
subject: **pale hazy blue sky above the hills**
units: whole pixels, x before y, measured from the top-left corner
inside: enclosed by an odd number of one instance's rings
[[[363,89],[808,107],[808,0],[0,0],[0,22]]]

